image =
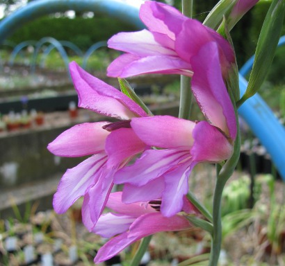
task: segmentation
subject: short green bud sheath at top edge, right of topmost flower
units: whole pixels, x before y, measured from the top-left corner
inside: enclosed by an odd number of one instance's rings
[[[229,13],[235,6],[237,0],[220,0],[214,8],[209,12],[209,15],[204,20],[204,25],[217,30],[222,22],[224,15]]]

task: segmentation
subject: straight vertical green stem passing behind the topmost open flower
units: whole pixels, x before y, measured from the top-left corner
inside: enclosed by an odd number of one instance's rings
[[[186,15],[186,17],[192,17],[193,0],[182,0],[182,13]],[[181,76],[179,118],[188,119],[190,117],[191,103],[192,92],[190,89],[190,78],[187,76]]]

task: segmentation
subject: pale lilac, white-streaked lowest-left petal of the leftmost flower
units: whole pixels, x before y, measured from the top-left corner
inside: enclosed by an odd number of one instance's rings
[[[104,163],[106,163],[106,154],[95,154],[78,166],[67,169],[54,194],[53,204],[56,213],[65,213],[76,199],[86,193],[89,186],[95,184]]]

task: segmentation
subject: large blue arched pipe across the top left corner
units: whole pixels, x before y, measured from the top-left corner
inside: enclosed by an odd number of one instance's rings
[[[0,23],[0,43],[26,22],[54,12],[75,10],[78,12],[94,12],[115,17],[121,21],[132,23],[137,28],[145,28],[138,19],[138,10],[142,1],[120,0],[38,0],[31,1],[19,8]]]

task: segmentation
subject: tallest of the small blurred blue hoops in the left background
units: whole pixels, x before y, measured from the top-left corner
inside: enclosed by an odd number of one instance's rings
[[[54,39],[52,37],[44,37],[44,38],[40,39],[40,41],[38,41],[37,44],[35,44],[35,51],[33,52],[33,58],[31,61],[31,73],[35,73],[35,64],[36,64],[38,53],[40,52],[40,48],[42,47],[42,44],[44,44],[46,42],[52,44],[58,50],[61,57],[63,58],[63,62],[65,63],[65,67],[66,67],[67,72],[69,74],[70,71],[68,68],[68,64],[70,64],[70,60],[68,59],[68,55],[67,55],[65,49],[63,48],[63,46],[60,44],[60,42],[58,42],[57,39]]]

